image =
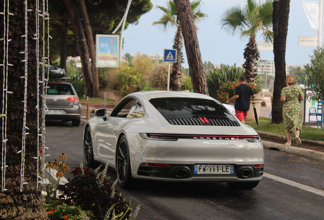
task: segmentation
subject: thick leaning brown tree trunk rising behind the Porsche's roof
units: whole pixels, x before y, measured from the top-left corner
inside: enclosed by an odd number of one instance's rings
[[[185,52],[195,93],[208,95],[204,66],[201,60],[194,14],[189,0],[174,0],[184,40]]]

